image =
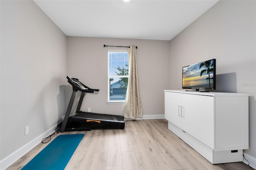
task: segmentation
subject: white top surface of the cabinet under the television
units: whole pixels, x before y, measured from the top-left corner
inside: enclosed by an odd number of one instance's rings
[[[226,92],[205,92],[205,91],[186,91],[186,90],[164,90],[167,92],[174,92],[174,93],[186,93],[186,94],[193,94],[193,95],[205,95],[205,96],[250,96],[250,94],[246,93],[226,93]]]

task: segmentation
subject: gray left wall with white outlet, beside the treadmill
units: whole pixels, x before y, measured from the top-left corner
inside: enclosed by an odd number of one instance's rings
[[[61,121],[67,38],[33,1],[0,3],[2,160]]]

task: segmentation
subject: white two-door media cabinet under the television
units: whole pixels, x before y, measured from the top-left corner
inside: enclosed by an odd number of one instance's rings
[[[243,161],[248,149],[248,96],[164,90],[168,129],[212,164]]]

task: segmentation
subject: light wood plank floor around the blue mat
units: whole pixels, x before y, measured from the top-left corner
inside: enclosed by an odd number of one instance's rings
[[[168,130],[165,119],[125,123],[124,130],[54,134],[52,140],[60,134],[84,133],[66,170],[251,170],[243,162],[211,164]],[[47,144],[38,144],[7,170],[21,169]]]

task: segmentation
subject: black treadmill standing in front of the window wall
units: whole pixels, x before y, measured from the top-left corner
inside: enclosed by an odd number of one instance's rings
[[[78,79],[71,76],[67,76],[67,79],[68,83],[73,87],[73,93],[64,120],[58,125],[60,132],[88,131],[91,129],[124,129],[124,116],[80,111],[86,93],[94,93],[95,91],[99,91],[99,89],[90,89]],[[76,114],[70,116],[77,91],[81,91],[82,93],[76,108]]]

